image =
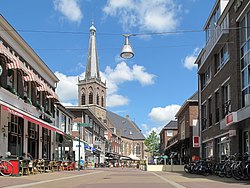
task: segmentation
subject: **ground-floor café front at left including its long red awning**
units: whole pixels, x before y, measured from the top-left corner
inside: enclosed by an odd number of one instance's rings
[[[54,133],[64,134],[63,131],[2,100],[0,112],[1,156],[6,157],[6,152],[10,152],[13,157],[29,153],[33,158],[52,158]]]

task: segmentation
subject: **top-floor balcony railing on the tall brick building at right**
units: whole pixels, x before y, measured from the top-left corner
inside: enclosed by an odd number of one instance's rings
[[[222,23],[215,27],[213,35],[207,41],[207,44],[205,46],[205,52],[201,58],[201,65],[203,65],[203,63],[207,60],[208,56],[215,48],[216,44],[220,42],[222,36],[228,33],[229,33],[229,13],[227,13]]]

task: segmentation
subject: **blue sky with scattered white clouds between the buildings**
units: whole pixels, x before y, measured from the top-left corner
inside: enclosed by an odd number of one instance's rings
[[[56,92],[77,104],[94,20],[108,109],[129,115],[142,132],[159,132],[198,88],[193,64],[215,0],[0,0],[0,13],[60,79]],[[183,32],[183,31],[199,32]],[[122,34],[135,56],[121,59]],[[151,34],[150,34],[151,33]],[[152,34],[155,33],[155,34]],[[149,34],[149,35],[145,35]]]

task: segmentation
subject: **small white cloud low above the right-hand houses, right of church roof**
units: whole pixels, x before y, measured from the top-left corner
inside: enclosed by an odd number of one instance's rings
[[[169,106],[162,107],[155,107],[149,113],[149,117],[154,122],[167,124],[169,121],[175,119],[175,115],[180,109],[181,106],[172,104]]]

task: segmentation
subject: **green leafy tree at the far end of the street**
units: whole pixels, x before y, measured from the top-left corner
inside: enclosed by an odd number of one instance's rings
[[[159,142],[160,138],[155,131],[152,131],[150,135],[145,139],[145,146],[148,148],[151,157],[159,155]]]

